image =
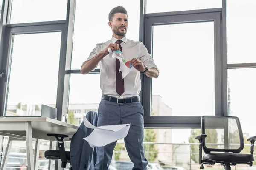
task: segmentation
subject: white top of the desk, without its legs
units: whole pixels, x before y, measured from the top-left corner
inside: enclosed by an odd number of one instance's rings
[[[44,139],[55,141],[56,138],[52,136],[47,136],[47,133],[56,133],[56,134],[64,134],[69,135],[69,137],[64,138],[64,140],[69,140],[73,136],[74,133],[78,130],[78,126],[71,125],[65,122],[61,122],[55,119],[50,119],[47,117],[1,117],[0,124],[1,126],[11,125],[15,126],[15,123],[25,123],[31,122],[32,126],[32,138]],[[8,134],[12,134],[15,136],[26,136],[25,131],[14,130],[15,127],[9,126],[9,130],[0,128],[0,135],[9,136]]]

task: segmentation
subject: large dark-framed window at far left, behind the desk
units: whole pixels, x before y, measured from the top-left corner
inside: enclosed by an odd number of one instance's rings
[[[4,2],[4,8],[0,8],[2,17],[6,17],[3,21],[7,21],[0,29],[1,116],[41,116],[42,104],[56,107],[61,113],[67,0]],[[7,141],[5,136],[1,143],[1,161]],[[49,141],[40,142],[38,169],[48,169],[45,150],[49,150]],[[27,169],[26,142],[12,142],[7,167]]]

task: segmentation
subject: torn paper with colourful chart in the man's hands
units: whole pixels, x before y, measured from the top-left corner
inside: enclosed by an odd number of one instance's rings
[[[127,74],[130,73],[133,65],[131,64],[131,60],[125,60],[123,54],[120,50],[116,50],[114,52],[111,51],[111,48],[108,48],[109,57],[117,58],[120,61],[120,69],[119,72],[122,72],[122,79],[124,79]]]

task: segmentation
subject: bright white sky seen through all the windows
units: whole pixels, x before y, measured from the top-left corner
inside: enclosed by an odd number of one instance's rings
[[[127,38],[139,38],[139,0],[76,0],[72,69],[80,69],[97,43],[111,39],[108,13],[128,10]],[[221,8],[221,0],[148,0],[147,12]],[[50,4],[50,5],[49,5]],[[67,0],[13,0],[11,23],[65,20]],[[256,62],[256,1],[227,0],[228,63]],[[58,9],[58,12],[56,12]],[[8,105],[55,104],[61,33],[15,35]],[[160,70],[152,94],[162,96],[172,115],[213,115],[214,23],[154,26],[152,57]],[[244,132],[255,135],[256,69],[229,70],[230,108]],[[170,83],[166,83],[166,82]],[[70,103],[99,103],[99,74],[71,75]],[[90,100],[89,100],[90,99]],[[183,138],[177,138],[183,134]],[[172,142],[188,142],[190,129],[173,129]]]

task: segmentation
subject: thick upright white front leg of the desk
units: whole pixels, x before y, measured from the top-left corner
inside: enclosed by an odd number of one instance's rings
[[[25,122],[28,170],[34,170],[31,122]]]

